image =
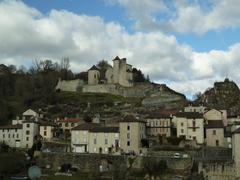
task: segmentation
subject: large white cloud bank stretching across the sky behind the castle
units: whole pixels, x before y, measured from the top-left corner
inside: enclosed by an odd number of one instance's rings
[[[146,14],[152,12],[151,9],[167,11],[164,4],[156,2],[152,1],[144,9],[145,4],[134,7],[132,0],[121,1],[136,8],[134,13],[138,9]],[[181,4],[179,9],[186,9],[186,5]],[[201,9],[196,12],[202,16]],[[191,20],[191,23],[196,22]],[[190,20],[186,26],[189,24]],[[167,84],[170,88],[186,94],[203,92],[215,81],[223,80],[226,74],[240,83],[240,44],[232,45],[228,51],[198,53],[187,44],[179,44],[173,35],[159,31],[129,34],[120,24],[105,23],[99,16],[77,15],[66,10],[52,10],[43,15],[13,0],[0,2],[0,27],[0,63],[6,65],[27,67],[35,58],[59,62],[68,56],[71,70],[77,73],[87,71],[102,59],[112,63],[118,55],[126,57],[129,64],[141,69],[152,81],[166,79],[171,82]]]

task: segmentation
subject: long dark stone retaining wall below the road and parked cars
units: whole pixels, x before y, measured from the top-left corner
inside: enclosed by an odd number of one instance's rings
[[[130,161],[129,158],[132,160]],[[82,171],[99,171],[100,165],[122,164],[126,167],[141,168],[142,160],[149,158],[146,156],[121,156],[121,155],[102,155],[102,154],[80,154],[80,153],[59,153],[41,152],[37,158],[37,164],[40,167],[51,165],[52,169],[58,169],[63,164],[78,166]],[[177,170],[189,170],[192,166],[192,158],[173,158],[151,156],[158,162],[166,161],[167,167]],[[132,162],[130,164],[130,162]]]

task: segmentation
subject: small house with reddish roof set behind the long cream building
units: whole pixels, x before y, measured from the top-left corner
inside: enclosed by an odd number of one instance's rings
[[[60,134],[69,134],[72,128],[84,123],[84,120],[82,118],[65,118],[57,120],[56,123],[59,126]]]

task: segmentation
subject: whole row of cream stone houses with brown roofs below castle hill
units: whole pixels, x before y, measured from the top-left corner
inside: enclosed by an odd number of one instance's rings
[[[128,114],[116,126],[107,126],[101,117],[91,123],[82,118],[64,118],[55,122],[43,119],[41,110],[28,109],[0,127],[0,142],[16,148],[31,148],[36,140],[52,142],[63,134],[71,137],[74,153],[136,154],[159,143],[160,138],[176,136],[195,142],[196,147],[232,148],[238,158],[240,117],[227,116],[226,110],[208,108],[202,102],[189,102],[183,110],[155,110],[144,118]],[[239,136],[239,137],[238,137]]]

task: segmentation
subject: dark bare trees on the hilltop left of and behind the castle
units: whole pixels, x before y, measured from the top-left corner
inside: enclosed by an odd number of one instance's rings
[[[107,61],[101,60],[96,66],[103,76],[110,65]],[[83,79],[87,82],[88,73],[73,73],[68,57],[63,57],[60,63],[48,59],[35,59],[28,69],[23,65],[17,68],[15,65],[0,64],[0,124],[13,116],[9,99],[32,108],[54,104],[55,86],[59,78]],[[134,82],[149,82],[149,78],[136,68],[133,68],[133,79]]]

